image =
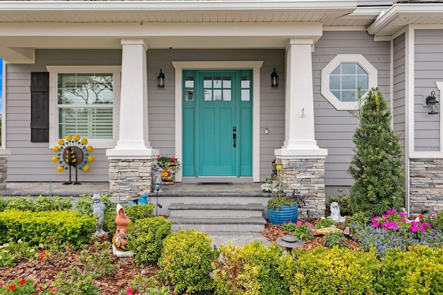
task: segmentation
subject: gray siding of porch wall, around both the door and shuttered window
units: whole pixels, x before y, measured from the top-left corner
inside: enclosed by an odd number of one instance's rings
[[[271,175],[274,150],[284,141],[284,49],[257,50],[149,50],[147,51],[148,131],[150,145],[162,155],[174,155],[175,81],[173,61],[261,60],[260,73],[260,179]],[[6,147],[8,181],[67,181],[67,172],[57,172],[51,161],[55,153],[48,143],[30,142],[30,73],[46,71],[46,65],[120,65],[120,50],[39,50],[35,65],[7,66]],[[280,86],[271,87],[271,72],[280,76]],[[160,69],[165,73],[165,88],[156,87]],[[264,133],[265,128],[269,134]],[[95,149],[96,161],[89,172],[78,172],[81,181],[108,181],[106,149]],[[73,180],[75,173],[72,174]]]

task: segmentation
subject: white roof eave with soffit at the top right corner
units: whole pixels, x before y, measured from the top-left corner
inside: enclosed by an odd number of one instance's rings
[[[397,3],[375,19],[374,23],[369,26],[368,33],[370,35],[386,35],[383,30],[388,32],[389,29],[399,26],[403,28],[410,24],[410,21],[404,18],[405,16],[435,17],[435,15],[442,15],[442,13],[443,3]],[[388,33],[388,35],[392,34]]]

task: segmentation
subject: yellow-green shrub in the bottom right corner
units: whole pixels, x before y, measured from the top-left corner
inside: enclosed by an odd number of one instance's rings
[[[442,294],[443,249],[427,246],[392,249],[381,259],[379,294]]]

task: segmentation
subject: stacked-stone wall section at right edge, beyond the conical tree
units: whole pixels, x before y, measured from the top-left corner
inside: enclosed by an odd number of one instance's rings
[[[443,210],[443,159],[410,159],[410,213]]]

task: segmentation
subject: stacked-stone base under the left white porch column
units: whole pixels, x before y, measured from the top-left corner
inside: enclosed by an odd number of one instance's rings
[[[151,193],[156,159],[109,159],[111,202],[127,202],[134,193]]]

